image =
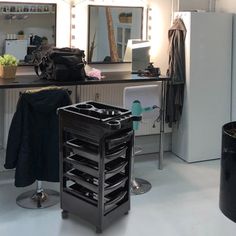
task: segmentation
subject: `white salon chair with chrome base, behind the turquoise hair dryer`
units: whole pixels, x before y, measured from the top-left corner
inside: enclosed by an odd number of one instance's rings
[[[130,109],[133,115],[134,132],[140,129],[141,122],[148,122],[155,126],[160,119],[161,89],[159,85],[140,85],[124,88],[123,106]],[[147,180],[134,177],[134,156],[142,149],[134,142],[131,163],[131,192],[135,195],[143,194],[151,189]]]

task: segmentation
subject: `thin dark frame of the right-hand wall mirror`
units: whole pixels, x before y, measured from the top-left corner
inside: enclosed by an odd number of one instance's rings
[[[87,33],[88,33],[88,37],[87,37],[87,63],[88,64],[119,64],[119,63],[127,63],[127,61],[109,61],[109,62],[106,62],[106,61],[90,61],[89,60],[89,51],[90,51],[90,40],[92,38],[92,36],[90,35],[90,17],[91,17],[91,8],[92,7],[111,7],[111,8],[125,8],[125,9],[140,9],[141,10],[141,19],[140,19],[140,39],[143,39],[144,38],[144,32],[143,32],[143,29],[144,29],[144,26],[143,26],[143,23],[144,23],[144,6],[118,6],[118,5],[94,5],[94,4],[91,4],[91,5],[88,5],[88,28],[87,28]]]

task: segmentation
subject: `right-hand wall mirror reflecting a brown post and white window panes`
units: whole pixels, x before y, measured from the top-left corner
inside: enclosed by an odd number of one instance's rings
[[[143,7],[89,5],[88,63],[123,62],[129,39],[142,39]]]

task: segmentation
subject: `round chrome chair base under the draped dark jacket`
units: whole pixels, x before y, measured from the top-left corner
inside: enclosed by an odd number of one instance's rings
[[[16,198],[16,203],[20,207],[28,209],[46,208],[56,205],[60,201],[60,195],[57,191],[51,189],[42,189],[42,191],[30,190],[22,193]]]

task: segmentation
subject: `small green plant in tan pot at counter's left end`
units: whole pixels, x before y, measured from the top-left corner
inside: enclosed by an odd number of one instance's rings
[[[13,79],[16,77],[18,60],[11,54],[0,56],[0,77],[4,79]]]

